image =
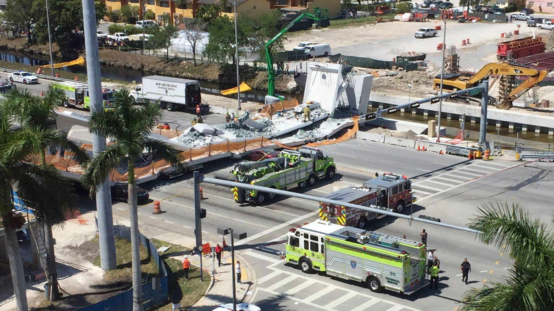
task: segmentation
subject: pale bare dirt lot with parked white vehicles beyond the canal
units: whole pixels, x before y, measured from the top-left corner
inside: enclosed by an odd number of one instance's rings
[[[520,24],[520,28],[517,25]],[[419,28],[435,28],[441,26],[437,37],[417,39],[414,32]],[[505,39],[500,33],[512,32],[519,29],[520,35]],[[456,45],[460,55],[461,69],[480,69],[483,65],[496,61],[496,44],[506,40],[532,36],[535,30],[537,36],[545,37],[550,30],[539,30],[527,27],[524,21],[512,23],[458,23],[447,22],[446,45]],[[290,33],[287,50],[292,49],[300,42],[329,43],[331,54],[370,57],[379,60],[392,60],[393,57],[417,51],[428,53],[427,60],[440,62],[442,52],[437,45],[443,42],[444,23],[437,20],[431,22],[386,22],[365,24],[356,27],[314,29],[301,33]],[[470,40],[470,45],[461,45],[461,40]]]

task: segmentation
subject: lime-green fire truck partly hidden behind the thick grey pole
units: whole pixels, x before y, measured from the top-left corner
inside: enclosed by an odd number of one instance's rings
[[[54,87],[65,92],[66,100],[63,102],[64,107],[90,109],[89,87],[86,84],[63,81],[55,83]],[[102,105],[104,105],[104,110],[109,110],[114,104],[114,92],[115,90],[113,89],[102,87]]]

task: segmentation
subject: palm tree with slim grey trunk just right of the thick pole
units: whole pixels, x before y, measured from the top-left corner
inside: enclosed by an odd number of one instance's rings
[[[158,103],[134,106],[128,91],[114,94],[113,111],[91,112],[90,131],[114,139],[106,149],[97,154],[85,167],[82,182],[94,191],[104,182],[110,170],[121,163],[127,164],[127,203],[131,220],[131,261],[133,310],[142,311],[142,282],[139,256],[139,220],[137,215],[137,191],[135,185],[135,159],[146,149],[171,165],[180,166],[181,154],[170,145],[150,137],[152,128],[160,122],[162,110]]]

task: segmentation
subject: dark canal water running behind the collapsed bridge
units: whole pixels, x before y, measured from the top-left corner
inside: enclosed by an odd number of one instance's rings
[[[0,53],[0,61],[9,61],[10,63],[19,63],[24,65],[39,66],[39,65],[48,65],[49,60],[32,58],[24,55],[10,53]],[[75,72],[80,74],[86,74],[85,66],[69,66],[64,67],[60,70]],[[145,72],[140,70],[125,69],[119,67],[110,67],[110,66],[100,66],[100,72],[102,77],[106,79],[119,79],[124,81],[140,81],[143,76],[153,75],[151,72]],[[200,87],[203,92],[209,94],[219,94],[221,90],[230,89],[235,87],[235,85],[229,84],[218,84],[213,82],[200,81]],[[266,95],[264,90],[251,90],[248,93],[240,94],[241,98],[249,101],[263,102]],[[285,94],[285,99],[290,100],[296,98],[299,102],[302,102],[302,94]],[[228,96],[234,97],[234,96]],[[234,97],[236,98],[236,97]],[[375,110],[376,108],[371,108],[370,110]],[[406,120],[411,122],[427,124],[429,120],[435,119],[434,117],[423,116],[423,115],[413,115],[409,112],[398,112],[393,115],[387,115],[387,118],[397,119],[397,120]],[[460,122],[458,120],[447,120],[447,118],[442,118],[440,120],[440,126],[447,128],[447,137],[455,137],[460,131]],[[477,141],[479,139],[479,123],[465,122],[465,133],[469,133],[469,139],[472,141]],[[487,126],[488,140],[490,139],[499,139],[501,141],[510,141],[515,142],[516,132],[514,129],[508,129],[505,127],[496,128],[495,126]],[[534,141],[534,142],[553,142],[554,137],[544,134],[544,133],[535,133],[532,131],[520,132],[519,133],[520,141]]]

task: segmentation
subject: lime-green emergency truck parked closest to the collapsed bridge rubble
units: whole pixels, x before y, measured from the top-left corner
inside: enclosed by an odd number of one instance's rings
[[[243,162],[231,171],[234,182],[289,190],[297,186],[313,186],[317,179],[335,177],[333,158],[320,149],[303,146],[297,150],[281,151],[278,157],[257,162]],[[273,193],[234,187],[233,198],[238,203],[250,201],[262,204],[275,198]]]

